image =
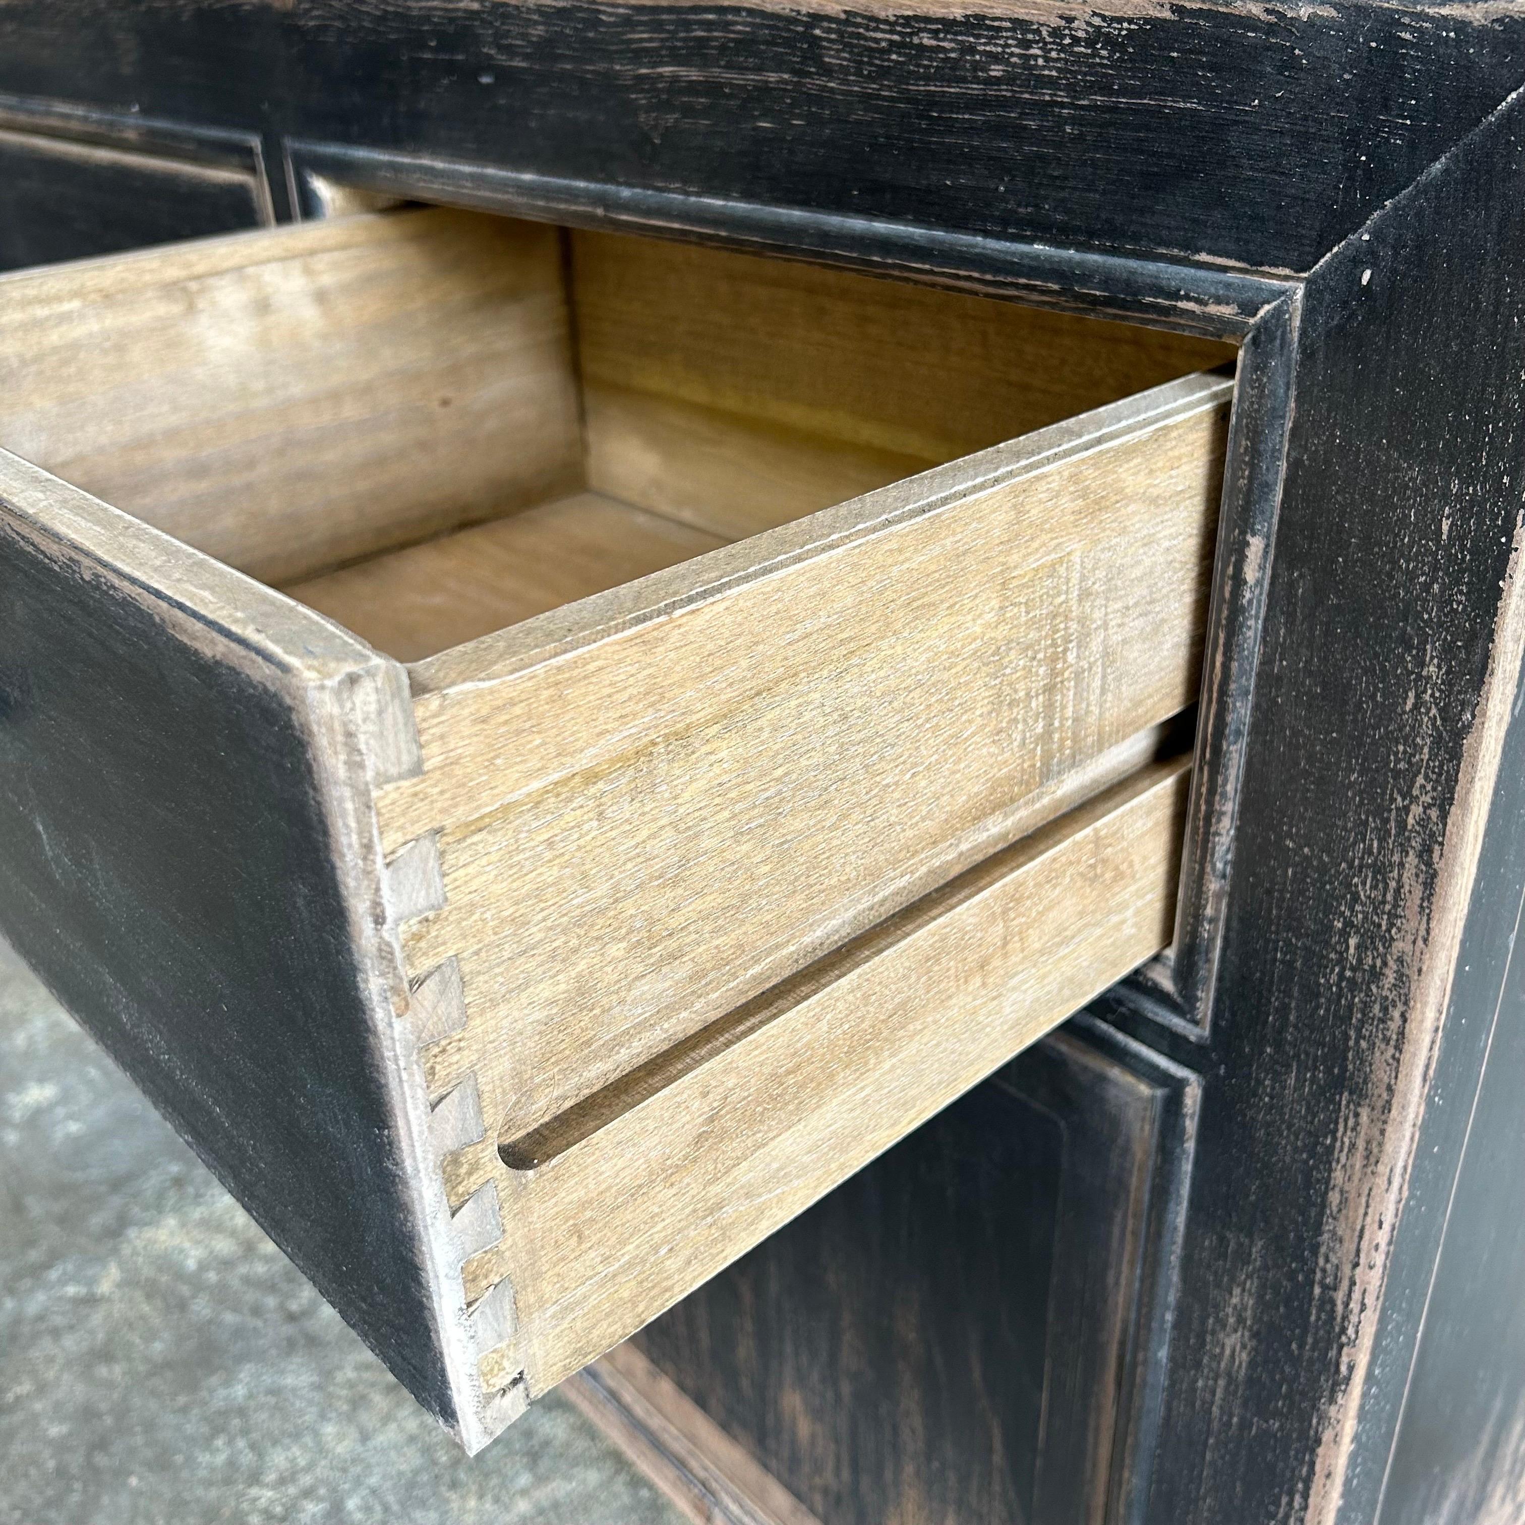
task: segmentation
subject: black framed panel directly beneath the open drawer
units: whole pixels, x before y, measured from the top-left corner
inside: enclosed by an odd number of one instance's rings
[[[1116,1517],[1153,1452],[1194,1104],[1190,1072],[1075,1023],[637,1344],[831,1525]]]

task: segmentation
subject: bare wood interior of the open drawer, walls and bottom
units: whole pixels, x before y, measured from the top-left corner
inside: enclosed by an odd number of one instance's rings
[[[34,308],[0,444],[403,662],[1232,357],[438,209],[203,250]]]

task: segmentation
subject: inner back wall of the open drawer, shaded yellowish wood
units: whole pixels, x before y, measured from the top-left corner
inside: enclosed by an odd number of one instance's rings
[[[730,538],[1234,357],[759,255],[570,241],[589,485]]]

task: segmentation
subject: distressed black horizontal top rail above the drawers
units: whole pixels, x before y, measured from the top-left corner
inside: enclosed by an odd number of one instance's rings
[[[1525,72],[1502,8],[915,15],[8,0],[0,88],[509,171],[1308,270]]]

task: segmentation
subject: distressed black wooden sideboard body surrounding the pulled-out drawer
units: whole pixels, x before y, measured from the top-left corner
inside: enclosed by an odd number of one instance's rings
[[[0,8],[5,268],[416,201],[1237,346],[1170,952],[633,1339],[825,1525],[1525,1517],[1522,85],[1491,3]]]

